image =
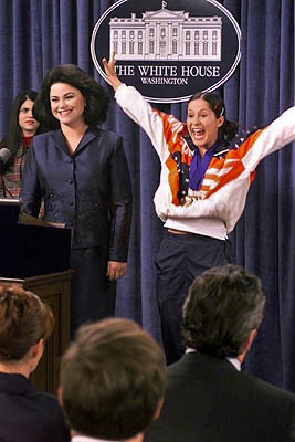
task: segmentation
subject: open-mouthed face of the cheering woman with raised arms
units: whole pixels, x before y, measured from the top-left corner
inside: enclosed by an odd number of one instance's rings
[[[194,146],[201,155],[218,139],[218,129],[223,125],[224,117],[217,117],[206,99],[192,99],[188,105],[187,126]]]

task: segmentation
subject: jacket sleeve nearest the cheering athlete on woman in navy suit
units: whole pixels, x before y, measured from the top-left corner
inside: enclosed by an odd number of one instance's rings
[[[112,157],[110,180],[112,219],[108,260],[126,262],[131,224],[131,182],[120,137]]]

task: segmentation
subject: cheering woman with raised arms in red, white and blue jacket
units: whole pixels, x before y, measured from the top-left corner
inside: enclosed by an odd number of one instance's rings
[[[228,234],[244,210],[261,159],[295,139],[295,107],[264,129],[240,131],[226,119],[220,95],[196,93],[185,124],[123,84],[114,54],[103,65],[118,105],[147,133],[161,161],[154,199],[165,227],[156,257],[157,301],[170,364],[185,350],[180,320],[188,288],[206,269],[231,262]]]

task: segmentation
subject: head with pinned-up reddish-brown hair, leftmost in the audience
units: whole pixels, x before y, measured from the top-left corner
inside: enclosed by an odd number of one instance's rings
[[[29,377],[53,330],[50,307],[18,285],[0,286],[0,371]]]

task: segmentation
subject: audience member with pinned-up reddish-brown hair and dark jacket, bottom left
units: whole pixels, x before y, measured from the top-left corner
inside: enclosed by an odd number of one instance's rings
[[[53,329],[52,311],[32,292],[0,286],[0,441],[65,442],[57,398],[29,380]]]

